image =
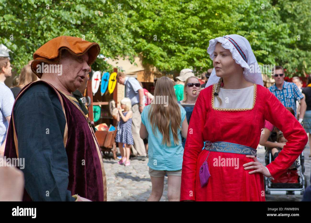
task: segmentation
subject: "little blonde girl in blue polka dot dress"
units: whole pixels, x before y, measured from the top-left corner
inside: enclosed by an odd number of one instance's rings
[[[131,108],[131,99],[123,98],[121,100],[121,107],[118,109],[119,113],[116,117],[117,121],[119,122],[116,134],[116,143],[119,143],[119,149],[122,156],[121,160],[118,163],[124,163],[124,166],[130,165],[130,145],[134,144],[132,136],[133,112],[130,110]],[[122,109],[124,109],[123,112]]]

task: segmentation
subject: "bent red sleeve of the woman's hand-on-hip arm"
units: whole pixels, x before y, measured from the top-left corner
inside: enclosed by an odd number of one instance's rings
[[[266,89],[264,118],[279,128],[288,140],[277,158],[267,165],[272,177],[276,179],[302,153],[308,143],[308,136],[295,116],[268,89]]]

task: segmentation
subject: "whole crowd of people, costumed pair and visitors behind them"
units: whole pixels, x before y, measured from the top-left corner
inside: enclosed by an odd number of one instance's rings
[[[97,43],[54,38],[34,53],[12,89],[3,83],[12,75],[10,61],[0,57],[0,155],[28,163],[22,169],[21,200],[107,200],[94,123],[81,102],[99,52]],[[251,46],[239,35],[211,39],[207,53],[214,68],[201,79],[183,69],[176,82],[159,78],[154,95],[135,78],[123,72],[116,76],[125,85],[125,98],[113,112],[118,163],[130,165],[131,149],[134,156],[148,154],[148,201],[160,200],[165,176],[169,201],[265,201],[263,176],[281,176],[308,142],[311,76],[302,88],[298,77],[287,82],[283,67],[276,66],[275,84],[264,87],[260,70],[250,69],[258,65]],[[41,63],[62,65],[63,75],[39,72],[35,67]],[[152,103],[157,98],[160,103]],[[269,141],[273,131],[277,138]],[[258,143],[272,150],[267,166],[256,158]],[[237,165],[222,165],[228,159]]]

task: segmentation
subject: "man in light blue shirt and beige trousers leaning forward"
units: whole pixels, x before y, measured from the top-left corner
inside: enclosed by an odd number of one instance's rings
[[[133,155],[147,156],[144,141],[140,138],[139,130],[142,123],[141,113],[145,107],[144,90],[139,82],[133,77],[127,77],[124,73],[118,72],[116,80],[119,84],[125,85],[125,97],[131,99],[132,104],[132,135],[134,145]]]

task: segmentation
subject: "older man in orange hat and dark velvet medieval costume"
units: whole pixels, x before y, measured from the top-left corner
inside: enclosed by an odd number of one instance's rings
[[[100,148],[72,95],[99,52],[97,43],[60,36],[34,53],[41,80],[16,98],[4,153],[25,158],[23,201],[106,201]]]

